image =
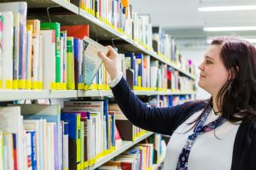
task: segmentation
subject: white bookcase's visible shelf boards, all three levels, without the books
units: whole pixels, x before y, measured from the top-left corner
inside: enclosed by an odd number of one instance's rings
[[[15,0],[16,1],[16,0]],[[15,2],[13,1],[13,2]],[[1,1],[10,2],[10,1]],[[81,25],[88,24],[91,26],[90,37],[102,42],[102,44],[110,44],[119,48],[120,53],[132,52],[136,54],[147,54],[152,59],[159,60],[175,70],[182,73],[183,76],[195,80],[195,76],[191,75],[188,71],[183,71],[176,64],[172,63],[163,56],[160,56],[152,49],[143,46],[142,44],[134,41],[131,37],[121,33],[113,26],[109,26],[96,17],[86,13],[73,3],[67,0],[27,0],[28,4],[28,18],[36,18],[39,20],[52,20],[60,22],[63,25]],[[49,15],[48,15],[49,14]],[[195,95],[195,92],[189,91],[143,91],[136,90],[134,93],[137,96],[154,96],[154,95]],[[111,90],[0,90],[0,102],[23,100],[23,99],[79,99],[83,97],[113,97]],[[143,136],[135,139],[134,141],[123,141],[121,146],[111,152],[108,156],[104,156],[97,160],[96,163],[88,169],[96,169],[102,166],[107,161],[118,156],[120,153],[128,150],[135,144],[143,139],[147,139],[153,133],[145,133]]]

